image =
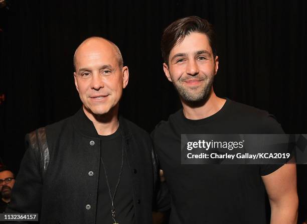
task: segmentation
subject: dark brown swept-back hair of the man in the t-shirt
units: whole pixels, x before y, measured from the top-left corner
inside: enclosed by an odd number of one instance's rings
[[[216,56],[216,40],[213,26],[205,19],[191,16],[173,22],[164,30],[161,40],[161,51],[165,63],[169,64],[171,50],[177,44],[180,44],[186,35],[192,32],[206,34],[210,47],[212,48],[213,56]]]

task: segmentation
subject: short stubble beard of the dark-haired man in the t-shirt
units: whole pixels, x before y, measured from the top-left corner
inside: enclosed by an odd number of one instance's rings
[[[205,82],[205,85],[186,87],[182,83],[189,79],[198,79]],[[179,81],[173,82],[179,96],[188,103],[206,102],[210,96],[212,85],[214,81],[214,74],[210,75],[195,75],[193,77],[180,78]]]

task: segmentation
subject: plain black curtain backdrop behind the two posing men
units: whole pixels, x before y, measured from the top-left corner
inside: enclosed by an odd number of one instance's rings
[[[73,54],[87,37],[118,45],[129,67],[123,116],[150,132],[181,107],[162,69],[163,29],[208,19],[218,39],[215,92],[275,115],[286,133],[307,133],[307,1],[22,1],[0,9],[0,156],[17,172],[26,133],[81,106]],[[8,9],[9,8],[9,9]],[[298,166],[305,199],[306,166]],[[305,209],[301,204],[300,209]]]

